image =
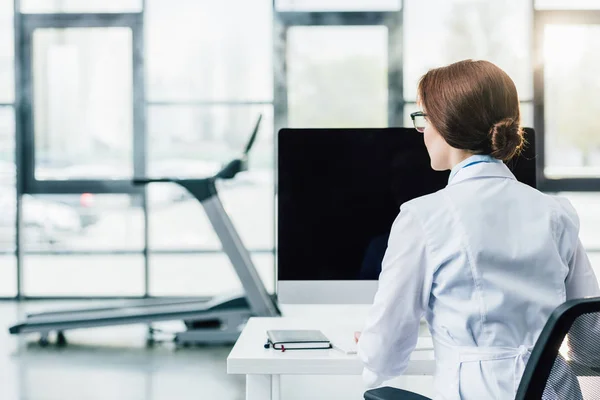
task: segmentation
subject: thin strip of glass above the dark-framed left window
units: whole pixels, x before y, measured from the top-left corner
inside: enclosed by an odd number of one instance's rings
[[[24,13],[136,12],[143,0],[21,0]]]

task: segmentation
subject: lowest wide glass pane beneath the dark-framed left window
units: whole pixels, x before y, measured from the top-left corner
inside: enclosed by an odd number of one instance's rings
[[[142,296],[144,257],[25,254],[23,282],[28,296]]]

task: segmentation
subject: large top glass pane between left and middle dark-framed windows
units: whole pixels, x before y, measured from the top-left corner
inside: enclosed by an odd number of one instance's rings
[[[148,98],[270,101],[270,0],[147,0]]]

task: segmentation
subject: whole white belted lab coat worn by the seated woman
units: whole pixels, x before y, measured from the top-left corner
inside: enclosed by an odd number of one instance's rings
[[[566,199],[473,156],[448,186],[402,205],[358,343],[366,386],[405,370],[424,316],[435,399],[514,399],[551,312],[600,295]]]

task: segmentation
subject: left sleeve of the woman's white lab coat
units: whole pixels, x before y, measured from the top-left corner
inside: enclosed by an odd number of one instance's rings
[[[358,342],[368,388],[401,375],[408,365],[429,299],[427,258],[421,224],[402,210],[392,226],[378,290]]]

